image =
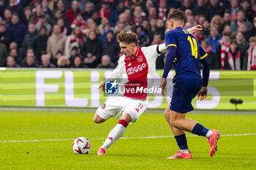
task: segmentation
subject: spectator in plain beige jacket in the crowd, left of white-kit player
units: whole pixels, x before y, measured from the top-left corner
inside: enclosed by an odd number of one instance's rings
[[[55,55],[58,51],[61,51],[64,53],[64,47],[66,42],[67,36],[64,34],[61,34],[61,28],[59,25],[53,26],[53,34],[48,39],[48,45],[47,45],[47,52],[48,55],[53,54],[53,58],[55,58]]]

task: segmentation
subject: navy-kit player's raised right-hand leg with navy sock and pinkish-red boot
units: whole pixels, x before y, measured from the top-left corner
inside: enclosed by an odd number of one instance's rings
[[[205,128],[203,125],[197,123],[195,120],[187,119],[186,114],[174,112],[172,110],[170,110],[169,124],[172,125],[174,128],[188,131],[192,134],[197,134],[198,136],[206,136],[211,147],[210,155],[215,155],[215,152],[217,151],[217,142],[220,135],[219,131]]]

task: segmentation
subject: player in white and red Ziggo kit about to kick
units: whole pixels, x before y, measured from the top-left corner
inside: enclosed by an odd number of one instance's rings
[[[200,31],[201,26],[195,26],[190,31]],[[121,31],[117,35],[119,46],[121,47],[121,57],[118,66],[111,72],[108,79],[122,78],[127,80],[127,85],[136,81],[153,79],[156,71],[157,57],[166,51],[165,43],[161,45],[151,45],[149,47],[139,47],[138,37],[132,31]],[[141,83],[143,88],[148,88],[148,82]],[[99,86],[105,91],[105,82]],[[106,150],[116,140],[123,136],[129,123],[135,123],[138,117],[145,112],[148,104],[147,93],[125,92],[124,96],[110,96],[105,103],[99,107],[94,115],[94,123],[103,123],[110,117],[118,118],[118,124],[110,131],[104,144],[99,147],[97,155],[105,155]]]

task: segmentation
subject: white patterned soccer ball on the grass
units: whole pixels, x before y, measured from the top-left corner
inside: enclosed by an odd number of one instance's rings
[[[88,154],[91,151],[91,142],[86,137],[75,139],[72,149],[76,154]]]

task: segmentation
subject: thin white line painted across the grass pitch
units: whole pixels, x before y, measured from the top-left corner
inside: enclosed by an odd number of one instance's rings
[[[187,135],[189,137],[197,137],[195,135]],[[221,136],[256,136],[256,134],[222,134]],[[141,136],[141,137],[122,137],[120,139],[157,139],[170,138],[174,136]],[[103,140],[105,138],[90,138],[90,140]],[[72,141],[75,139],[35,139],[35,140],[18,140],[18,141],[0,141],[0,143],[15,143],[15,142],[56,142],[56,141]]]

